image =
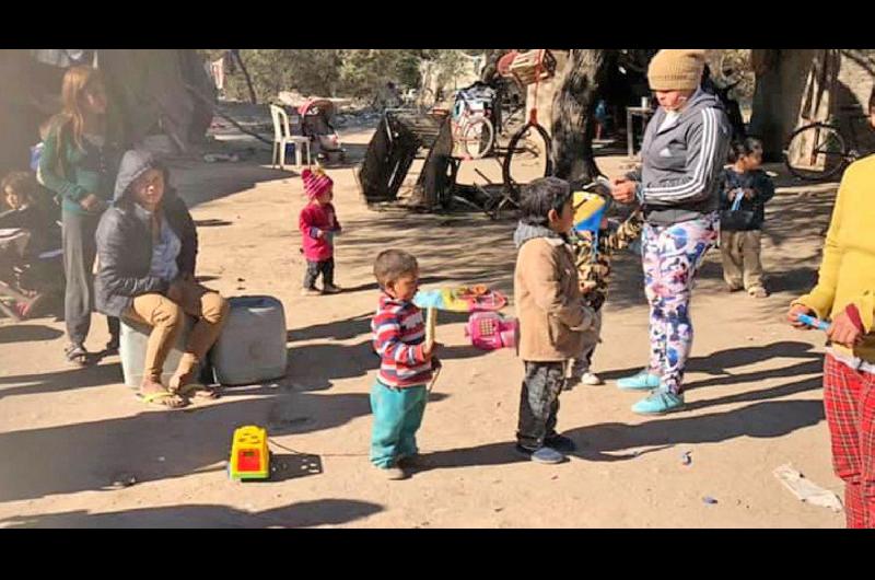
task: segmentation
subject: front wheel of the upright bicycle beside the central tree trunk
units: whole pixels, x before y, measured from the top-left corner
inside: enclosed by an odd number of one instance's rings
[[[527,123],[511,138],[501,176],[511,198],[520,200],[520,184],[547,177],[553,171],[550,136],[547,129]]]

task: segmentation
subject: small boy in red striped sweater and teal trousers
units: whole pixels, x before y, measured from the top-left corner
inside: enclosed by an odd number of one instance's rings
[[[434,344],[425,343],[422,312],[413,304],[419,286],[417,258],[399,250],[381,252],[374,277],[382,293],[371,328],[381,364],[371,390],[371,463],[389,479],[404,479],[405,468],[418,457],[416,434],[438,360]]]

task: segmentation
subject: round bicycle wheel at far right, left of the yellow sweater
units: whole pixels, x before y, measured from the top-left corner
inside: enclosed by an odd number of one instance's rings
[[[827,181],[844,170],[849,151],[839,129],[814,123],[796,129],[784,149],[786,169],[806,182]]]

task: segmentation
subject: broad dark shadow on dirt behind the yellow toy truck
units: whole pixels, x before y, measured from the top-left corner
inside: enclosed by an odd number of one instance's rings
[[[127,387],[118,388],[129,393]],[[133,393],[129,396],[132,405],[140,405]],[[432,394],[430,401],[440,403],[447,396]],[[4,465],[15,466],[0,471],[0,501],[102,490],[120,473],[132,474],[140,483],[196,472],[223,473],[237,427],[261,425],[271,438],[278,438],[334,429],[371,413],[366,392],[329,394],[288,387],[230,388],[217,402],[196,403],[185,410],[140,408],[126,417],[0,433],[0,456]],[[278,477],[314,475],[314,468],[320,472],[316,451],[296,451]]]

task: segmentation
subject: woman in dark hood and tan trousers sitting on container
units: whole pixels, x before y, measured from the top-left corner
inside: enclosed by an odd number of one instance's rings
[[[222,329],[229,304],[195,281],[198,239],[191,214],[167,186],[167,170],[145,151],[125,153],[113,206],[97,227],[97,310],[152,327],[140,397],[171,408],[186,395],[218,396],[196,382],[198,368]],[[164,362],[185,315],[197,323],[167,387]]]

